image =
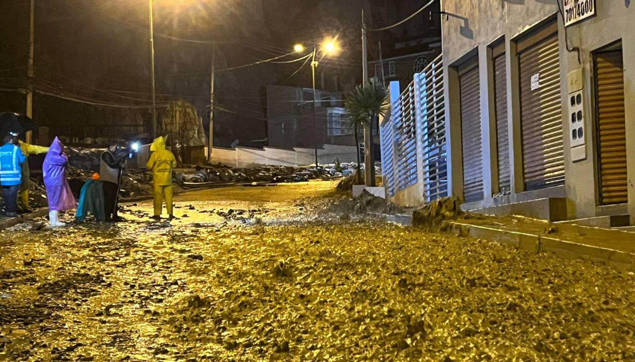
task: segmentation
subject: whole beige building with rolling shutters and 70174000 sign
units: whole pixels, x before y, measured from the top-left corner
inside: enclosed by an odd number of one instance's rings
[[[441,1],[448,193],[635,224],[635,4],[559,1]]]

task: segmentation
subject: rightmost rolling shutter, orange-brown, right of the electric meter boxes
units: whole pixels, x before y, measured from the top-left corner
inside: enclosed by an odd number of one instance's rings
[[[622,51],[596,56],[600,197],[603,205],[627,198],[626,122]]]

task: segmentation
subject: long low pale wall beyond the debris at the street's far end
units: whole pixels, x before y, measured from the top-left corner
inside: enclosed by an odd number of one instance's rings
[[[231,167],[253,167],[258,165],[310,165],[315,163],[313,148],[283,148],[264,147],[248,148],[214,148],[211,154],[214,164],[224,164]],[[318,148],[318,162],[331,164],[338,158],[340,162],[355,162],[357,153],[354,146],[324,145]]]

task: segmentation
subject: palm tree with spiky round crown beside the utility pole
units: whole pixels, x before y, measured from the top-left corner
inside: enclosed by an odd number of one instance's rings
[[[385,116],[390,109],[390,101],[388,90],[376,78],[373,77],[368,81],[367,86],[358,86],[349,89],[344,101],[344,109],[346,110],[349,124],[356,126],[368,127],[370,129],[371,141],[366,145],[366,150],[370,154],[370,164],[375,165],[375,150],[373,141],[373,124],[377,123],[379,116]],[[357,127],[355,130],[355,142],[357,144]],[[358,147],[359,150],[359,147]],[[370,167],[370,184],[366,186],[375,186],[375,167]],[[359,174],[359,151],[358,151],[358,174]]]

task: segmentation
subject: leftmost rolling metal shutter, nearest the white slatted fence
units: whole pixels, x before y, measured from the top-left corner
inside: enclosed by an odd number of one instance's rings
[[[481,97],[478,65],[460,75],[459,82],[463,145],[463,195],[465,202],[473,202],[483,200]]]

